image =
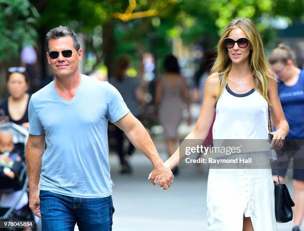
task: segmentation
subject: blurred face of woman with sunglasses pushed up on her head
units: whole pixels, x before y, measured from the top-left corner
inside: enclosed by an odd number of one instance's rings
[[[23,74],[17,72],[10,74],[7,81],[7,89],[13,98],[22,97],[27,91],[27,88],[28,86]]]

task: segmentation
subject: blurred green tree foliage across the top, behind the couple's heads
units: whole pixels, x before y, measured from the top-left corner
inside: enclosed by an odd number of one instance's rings
[[[162,57],[170,52],[174,37],[186,45],[202,43],[214,48],[219,34],[234,17],[251,18],[264,42],[269,43],[275,36],[271,20],[284,17],[292,23],[303,17],[304,6],[304,0],[136,0],[133,12],[155,9],[157,15],[122,21],[114,13],[124,13],[128,0],[30,1],[41,14],[38,29],[68,25],[85,33],[87,50],[101,54],[97,62],[109,69],[112,60],[123,54],[135,59],[150,51]],[[102,26],[101,46],[91,45],[96,26]]]

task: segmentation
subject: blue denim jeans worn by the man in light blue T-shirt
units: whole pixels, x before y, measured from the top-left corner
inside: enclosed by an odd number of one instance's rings
[[[78,198],[40,191],[42,231],[112,231],[112,196]]]

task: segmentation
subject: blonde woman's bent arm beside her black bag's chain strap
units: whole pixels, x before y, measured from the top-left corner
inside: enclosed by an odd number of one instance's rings
[[[279,149],[282,148],[282,146],[279,145],[279,143],[281,143],[280,140],[284,140],[289,132],[289,125],[284,116],[281,102],[279,99],[276,79],[269,79],[268,85],[268,95],[272,104],[272,106],[270,107],[270,116],[276,128],[276,131],[272,132],[273,140],[271,143],[273,149]]]

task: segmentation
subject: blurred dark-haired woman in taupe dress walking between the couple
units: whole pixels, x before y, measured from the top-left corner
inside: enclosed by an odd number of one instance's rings
[[[164,138],[168,157],[176,149],[178,140],[177,129],[183,118],[183,109],[186,104],[188,110],[187,123],[191,125],[190,96],[186,79],[180,75],[180,67],[173,55],[164,60],[164,74],[157,80],[155,87],[155,110],[164,129]],[[172,169],[174,175],[178,167]]]

